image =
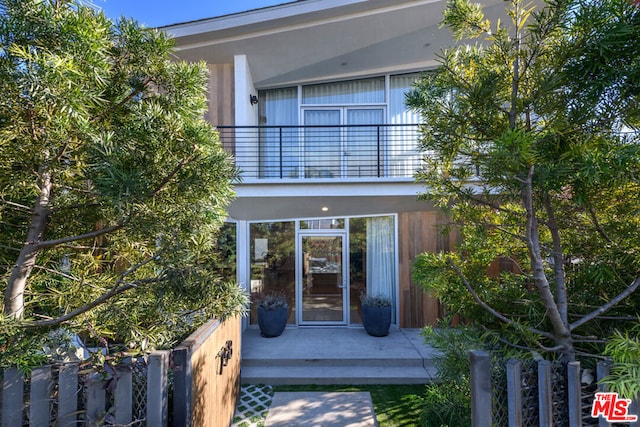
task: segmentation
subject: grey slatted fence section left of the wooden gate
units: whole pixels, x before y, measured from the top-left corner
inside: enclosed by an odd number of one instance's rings
[[[167,423],[169,351],[100,369],[64,363],[24,375],[2,372],[0,423],[4,426],[128,425]]]

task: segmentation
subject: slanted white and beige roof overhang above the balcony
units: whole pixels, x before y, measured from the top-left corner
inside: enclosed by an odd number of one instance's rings
[[[502,0],[485,0],[503,16]],[[185,60],[246,55],[256,87],[424,70],[454,43],[444,0],[303,0],[164,27]]]

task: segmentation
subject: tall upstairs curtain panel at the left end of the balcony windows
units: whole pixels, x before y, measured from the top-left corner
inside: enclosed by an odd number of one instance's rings
[[[298,88],[260,92],[260,177],[297,178],[299,147]]]

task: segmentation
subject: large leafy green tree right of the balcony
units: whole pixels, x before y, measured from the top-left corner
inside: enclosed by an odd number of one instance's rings
[[[506,12],[510,25],[492,25],[451,0],[443,25],[481,39],[445,50],[407,96],[428,153],[418,180],[461,234],[455,254],[421,255],[415,276],[497,339],[571,360],[611,332],[605,313],[631,320],[640,303],[628,298],[640,285],[640,10],[511,0]]]

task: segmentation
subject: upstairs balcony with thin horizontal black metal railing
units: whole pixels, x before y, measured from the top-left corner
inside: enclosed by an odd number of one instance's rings
[[[418,125],[218,126],[244,182],[412,178]]]

